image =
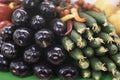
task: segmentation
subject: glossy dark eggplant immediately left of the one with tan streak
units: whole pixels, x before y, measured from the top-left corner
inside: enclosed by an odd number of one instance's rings
[[[18,46],[28,46],[31,44],[32,33],[28,28],[18,28],[13,33],[13,40]]]

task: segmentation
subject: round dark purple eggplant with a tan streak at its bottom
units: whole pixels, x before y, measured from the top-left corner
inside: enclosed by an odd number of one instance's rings
[[[51,45],[54,34],[48,29],[41,29],[35,34],[35,42],[42,48]]]

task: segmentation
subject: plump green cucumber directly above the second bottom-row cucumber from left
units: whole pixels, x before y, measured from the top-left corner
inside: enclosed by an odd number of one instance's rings
[[[100,59],[96,57],[90,58],[91,68],[96,71],[106,71],[107,68],[105,67],[104,63],[100,61]]]

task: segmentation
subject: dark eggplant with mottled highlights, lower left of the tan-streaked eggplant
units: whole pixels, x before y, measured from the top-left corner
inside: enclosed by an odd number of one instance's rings
[[[40,59],[41,52],[38,49],[38,46],[33,45],[27,48],[23,53],[23,58],[25,62],[36,63]]]

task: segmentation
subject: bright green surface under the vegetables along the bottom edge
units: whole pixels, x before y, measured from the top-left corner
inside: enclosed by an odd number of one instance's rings
[[[25,78],[19,78],[16,76],[13,76],[11,73],[9,72],[0,72],[0,80],[38,80],[38,78],[36,78],[35,76],[28,76]],[[51,80],[60,80],[57,78],[51,79]],[[93,80],[93,79],[80,79],[77,78],[76,80]],[[110,75],[103,75],[103,78],[101,80],[112,80]]]

